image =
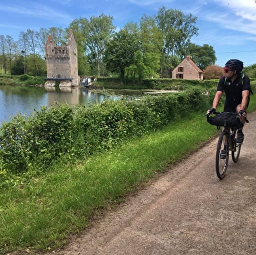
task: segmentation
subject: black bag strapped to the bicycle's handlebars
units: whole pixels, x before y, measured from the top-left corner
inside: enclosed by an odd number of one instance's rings
[[[218,113],[214,117],[207,117],[207,121],[217,127],[242,128],[244,126],[238,115],[231,112]]]

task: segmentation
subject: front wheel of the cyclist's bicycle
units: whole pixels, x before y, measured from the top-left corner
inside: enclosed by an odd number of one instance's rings
[[[224,143],[226,148],[225,158],[221,155],[221,150],[224,149]],[[219,179],[223,179],[227,172],[227,166],[229,163],[229,137],[227,132],[223,130],[219,135],[219,141],[217,142],[216,150],[216,173]]]

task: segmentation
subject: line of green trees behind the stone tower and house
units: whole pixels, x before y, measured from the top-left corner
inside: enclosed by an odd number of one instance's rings
[[[72,29],[78,46],[78,75],[125,78],[171,78],[171,71],[186,55],[204,70],[215,65],[214,48],[199,46],[191,38],[199,35],[197,17],[176,9],[159,8],[154,16],[144,14],[140,22],[128,22],[117,30],[113,17],[77,18],[69,27],[22,31],[15,41],[0,35],[3,74],[46,75],[45,43],[48,35],[57,46],[66,45]]]

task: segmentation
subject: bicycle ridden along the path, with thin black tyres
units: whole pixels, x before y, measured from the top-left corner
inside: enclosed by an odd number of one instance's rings
[[[219,114],[220,112],[216,112],[215,114]],[[239,115],[238,113],[231,113],[236,117]],[[209,117],[209,114],[206,114]],[[244,117],[246,119],[246,117]],[[246,119],[248,123],[248,119]],[[220,128],[220,127],[217,127]],[[223,179],[225,174],[227,173],[227,168],[229,165],[229,155],[231,152],[231,157],[233,162],[238,162],[238,158],[240,156],[242,143],[237,143],[236,139],[238,136],[237,127],[227,127],[227,125],[223,125],[223,130],[219,135],[219,140],[217,142],[216,149],[216,174],[219,179]],[[225,148],[225,154],[223,152],[223,148]]]

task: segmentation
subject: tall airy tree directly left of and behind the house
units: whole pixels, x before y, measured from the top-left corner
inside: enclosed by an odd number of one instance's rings
[[[161,48],[161,77],[163,70],[167,68],[166,60],[174,55],[184,58],[185,49],[189,44],[191,37],[198,35],[198,28],[195,27],[196,17],[192,14],[185,15],[180,10],[165,7],[159,9],[155,16],[157,28],[162,33]]]

